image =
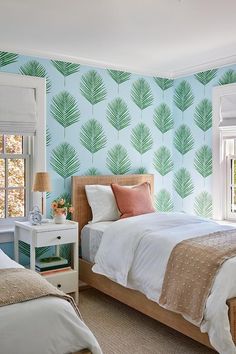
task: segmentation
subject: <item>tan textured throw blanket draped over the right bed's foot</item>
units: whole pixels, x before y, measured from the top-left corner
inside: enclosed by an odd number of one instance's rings
[[[168,260],[159,304],[199,326],[215,277],[234,256],[236,229],[178,243]]]

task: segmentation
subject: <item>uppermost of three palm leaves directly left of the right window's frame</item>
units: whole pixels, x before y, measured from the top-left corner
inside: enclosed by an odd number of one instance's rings
[[[206,132],[212,126],[212,104],[208,99],[198,103],[194,112],[194,121],[198,128]]]

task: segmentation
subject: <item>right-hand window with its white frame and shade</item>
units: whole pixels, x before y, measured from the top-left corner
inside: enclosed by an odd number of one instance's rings
[[[213,218],[236,220],[236,84],[213,89]]]

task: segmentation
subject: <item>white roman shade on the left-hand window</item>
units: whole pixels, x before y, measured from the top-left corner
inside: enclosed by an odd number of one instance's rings
[[[36,124],[35,89],[0,85],[0,133],[34,135]]]

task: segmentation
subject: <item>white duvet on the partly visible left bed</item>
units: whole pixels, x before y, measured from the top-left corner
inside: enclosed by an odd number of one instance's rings
[[[18,267],[0,250],[0,268]],[[45,297],[0,308],[0,354],[66,354],[84,348],[102,354],[92,332],[63,299]]]

